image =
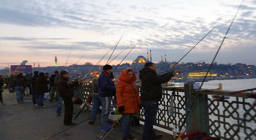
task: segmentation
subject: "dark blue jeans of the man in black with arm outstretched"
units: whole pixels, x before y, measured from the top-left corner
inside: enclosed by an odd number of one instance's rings
[[[144,108],[145,122],[143,126],[142,140],[152,140],[156,137],[153,130],[154,122],[156,122],[156,114],[158,110],[157,101],[141,101]]]

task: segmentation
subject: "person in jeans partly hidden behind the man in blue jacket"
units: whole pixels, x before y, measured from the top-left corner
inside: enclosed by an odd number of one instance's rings
[[[92,79],[92,113],[89,124],[93,124],[96,120],[96,114],[99,112],[101,102],[99,97],[99,90],[98,90],[98,80],[97,78]]]

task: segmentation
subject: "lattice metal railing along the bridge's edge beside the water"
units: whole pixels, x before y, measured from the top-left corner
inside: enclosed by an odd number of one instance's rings
[[[141,86],[137,86],[140,93]],[[230,94],[232,91],[224,90],[200,90],[193,89],[186,90],[185,87],[162,88],[163,98],[159,102],[159,109],[155,125],[172,130],[174,126],[181,125],[184,122],[186,111],[191,103],[191,98],[199,94],[198,104],[192,108],[192,116],[186,121],[185,126],[188,130],[201,130],[211,136],[216,136],[225,140],[256,140],[256,107],[252,106],[253,98],[250,98],[250,92],[241,94]],[[78,95],[83,101],[86,101],[90,94],[90,86],[86,85]],[[174,101],[174,115],[168,114],[170,106],[170,98],[172,92],[175,92]],[[186,96],[185,96],[186,92]],[[189,92],[189,93],[188,93]],[[190,98],[187,97],[191,94]],[[255,93],[253,93],[255,94]],[[233,96],[228,100],[216,101],[212,100],[210,95]],[[204,96],[206,98],[201,98]],[[202,109],[206,108],[206,109]],[[200,110],[193,112],[193,110]],[[200,117],[195,117],[197,116]],[[144,121],[144,110],[140,112],[140,120]],[[198,126],[203,127],[198,127]]]

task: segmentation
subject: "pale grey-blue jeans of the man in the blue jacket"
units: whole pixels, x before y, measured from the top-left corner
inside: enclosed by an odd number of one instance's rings
[[[102,104],[102,113],[100,123],[102,127],[110,126],[108,123],[108,115],[110,113],[112,97],[100,97],[100,102]]]

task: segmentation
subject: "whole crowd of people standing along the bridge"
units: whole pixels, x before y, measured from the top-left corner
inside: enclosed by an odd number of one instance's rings
[[[145,122],[142,140],[162,138],[162,134],[156,134],[153,130],[154,122],[156,122],[158,102],[162,100],[161,84],[168,82],[173,76],[179,73],[180,71],[171,71],[166,74],[158,75],[156,73],[156,65],[152,62],[146,63],[139,74],[142,84],[141,93],[139,94],[135,83],[136,74],[133,70],[123,70],[115,86],[112,66],[108,64],[104,65],[100,76],[93,78],[91,82],[93,108],[88,123],[94,124],[96,115],[100,110],[100,106],[102,106],[100,128],[105,130],[111,129],[112,126],[108,122],[108,114],[110,113],[111,106],[116,106],[117,111],[122,114],[123,140],[138,140],[138,138],[135,138],[131,133],[131,121],[133,116],[139,113],[141,109],[144,109]],[[68,72],[65,70],[61,70],[60,74],[58,71],[54,72],[50,78],[48,74],[36,71],[33,77],[32,74],[26,75],[25,77],[20,74],[16,75],[16,77],[11,75],[6,79],[7,80],[4,80],[2,77],[0,78],[1,87],[6,83],[9,92],[13,92],[12,88],[15,87],[17,101],[19,103],[23,101],[24,89],[27,86],[31,86],[29,90],[31,89],[32,103],[38,108],[46,108],[46,106],[44,106],[44,94],[51,90],[50,102],[54,100],[58,101],[56,116],[60,116],[63,100],[65,107],[64,125],[72,126],[76,124],[72,122],[72,98],[74,96],[74,87],[82,83],[82,80],[70,82]],[[2,103],[2,92],[0,99]]]

